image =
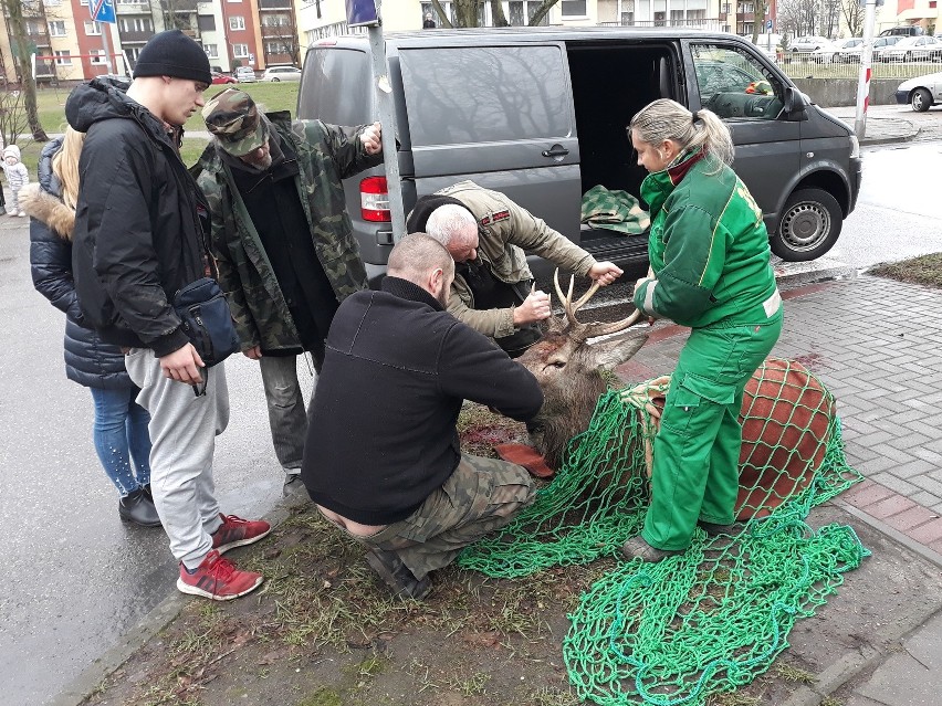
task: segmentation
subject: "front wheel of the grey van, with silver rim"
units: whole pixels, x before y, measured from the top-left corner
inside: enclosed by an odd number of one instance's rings
[[[786,262],[807,262],[834,246],[841,225],[844,214],[837,199],[823,189],[799,189],[785,202],[770,245]]]

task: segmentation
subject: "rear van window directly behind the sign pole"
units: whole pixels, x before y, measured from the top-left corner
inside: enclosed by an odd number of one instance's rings
[[[297,102],[297,117],[317,119],[333,125],[371,123],[369,106],[369,57],[365,52],[314,48],[304,60],[304,91]]]

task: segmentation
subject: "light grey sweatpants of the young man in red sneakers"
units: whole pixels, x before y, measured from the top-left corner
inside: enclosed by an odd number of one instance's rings
[[[164,377],[149,348],[125,356],[127,373],[140,388],[137,403],[150,412],[150,491],[170,538],[170,551],[192,570],[212,549],[219,504],[212,480],[216,436],[229,423],[229,389],[223,365],[203,369],[206,394]]]

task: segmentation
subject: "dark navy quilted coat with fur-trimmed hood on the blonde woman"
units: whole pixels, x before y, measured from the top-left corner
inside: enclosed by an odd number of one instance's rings
[[[55,308],[65,313],[65,375],[86,388],[130,389],[117,346],[104,343],[82,327],[82,310],[72,281],[72,226],[75,211],[61,201],[62,188],[52,173],[52,158],[62,146],[55,139],[43,147],[39,182],[20,190],[20,208],[30,217],[30,270],[33,285]]]

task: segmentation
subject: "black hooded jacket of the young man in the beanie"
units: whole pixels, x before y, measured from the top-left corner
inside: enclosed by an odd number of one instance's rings
[[[82,313],[109,344],[174,352],[188,343],[174,295],[206,272],[206,200],[164,124],[121,84],[74,88],[65,117],[86,133],[72,250]]]

